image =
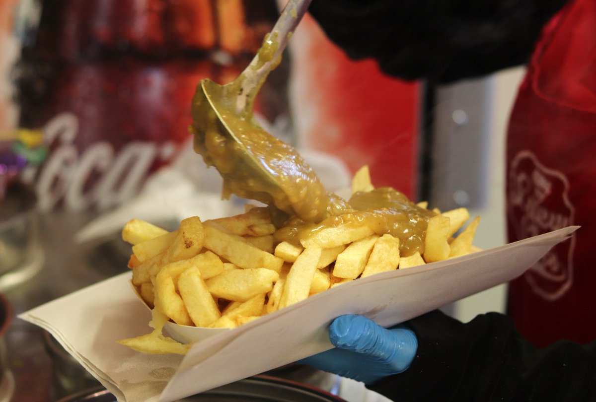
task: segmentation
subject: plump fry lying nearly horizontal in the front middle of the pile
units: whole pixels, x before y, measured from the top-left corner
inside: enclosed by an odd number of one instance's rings
[[[280,275],[266,268],[225,270],[206,281],[214,297],[232,301],[247,301],[273,289],[273,283]]]

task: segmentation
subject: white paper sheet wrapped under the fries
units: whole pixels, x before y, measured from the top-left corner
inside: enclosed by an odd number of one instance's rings
[[[151,331],[150,311],[132,291],[128,272],[19,317],[54,335],[119,401],[168,402],[327,350],[327,326],[341,314],[390,326],[508,282],[576,229],[345,283],[199,342],[184,358],[117,344]]]

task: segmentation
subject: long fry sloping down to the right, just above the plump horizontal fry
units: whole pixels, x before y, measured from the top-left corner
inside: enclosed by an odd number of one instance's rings
[[[204,247],[241,268],[266,268],[280,272],[284,261],[259,250],[239,235],[228,233],[216,223],[205,222]]]

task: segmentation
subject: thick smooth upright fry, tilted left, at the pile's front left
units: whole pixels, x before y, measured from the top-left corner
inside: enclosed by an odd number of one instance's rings
[[[195,326],[208,326],[221,316],[198,267],[190,267],[180,274],[178,291]]]

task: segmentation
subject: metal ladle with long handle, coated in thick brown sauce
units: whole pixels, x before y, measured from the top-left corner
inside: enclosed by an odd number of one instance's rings
[[[275,205],[307,222],[320,222],[336,208],[298,152],[253,119],[254,99],[280,63],[288,39],[311,3],[290,0],[249,66],[232,82],[201,80],[193,98],[194,149],[224,178],[224,197],[236,194]]]

